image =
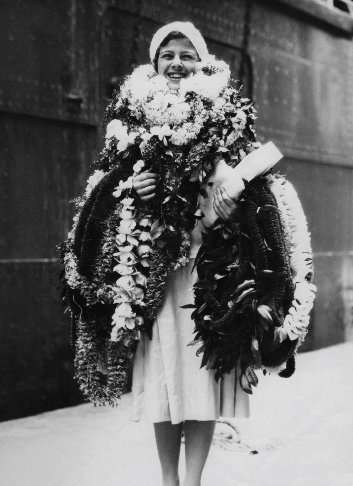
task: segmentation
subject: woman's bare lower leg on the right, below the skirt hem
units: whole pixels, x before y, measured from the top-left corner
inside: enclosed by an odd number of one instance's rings
[[[201,475],[210,451],[215,420],[185,420],[184,486],[201,486]]]

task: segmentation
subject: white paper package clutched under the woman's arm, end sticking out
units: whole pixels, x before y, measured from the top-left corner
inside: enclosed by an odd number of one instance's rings
[[[244,157],[234,169],[229,167],[224,160],[217,162],[212,174],[202,186],[206,189],[208,196],[207,198],[201,196],[199,202],[199,208],[205,214],[202,218],[204,225],[210,228],[218,218],[213,209],[213,196],[217,188],[225,189],[231,199],[237,200],[244,191],[243,179],[250,181],[265,174],[282,157],[278,148],[272,142],[268,142]]]

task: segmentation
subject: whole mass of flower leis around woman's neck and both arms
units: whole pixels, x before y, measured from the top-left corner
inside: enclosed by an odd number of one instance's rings
[[[188,262],[190,231],[203,217],[195,194],[205,197],[205,178],[220,159],[235,167],[259,146],[254,113],[231,86],[229,67],[212,57],[178,91],[146,65],[114,93],[106,147],[61,245],[76,378],[95,404],[114,405],[124,391],[141,331],[151,337],[166,275]],[[149,203],[133,189],[145,169],[160,174]],[[202,365],[218,380],[240,362],[248,393],[256,369],[290,376],[315,291],[294,189],[271,174],[246,182],[240,222],[218,220],[203,237],[195,302],[186,306]]]

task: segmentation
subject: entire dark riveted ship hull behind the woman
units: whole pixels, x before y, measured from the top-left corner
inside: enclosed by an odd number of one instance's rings
[[[285,154],[279,169],[299,192],[316,255],[305,348],[353,338],[350,38],[270,0],[3,1],[0,419],[81,400],[55,246],[103,146],[113,87],[148,61],[151,35],[173,20],[201,29],[253,95],[260,139]]]

